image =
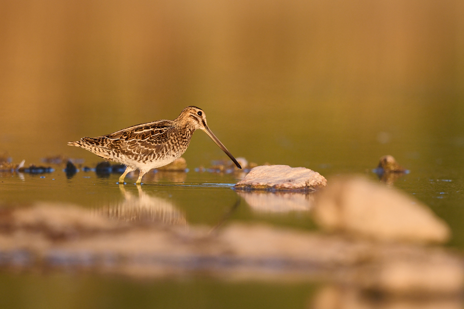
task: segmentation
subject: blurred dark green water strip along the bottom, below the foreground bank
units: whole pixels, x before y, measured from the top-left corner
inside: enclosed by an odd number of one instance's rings
[[[314,284],[221,282],[212,279],[134,281],[77,274],[0,275],[0,307],[304,308]]]

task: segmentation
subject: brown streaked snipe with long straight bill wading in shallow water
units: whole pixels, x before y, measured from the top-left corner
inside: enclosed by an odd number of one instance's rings
[[[187,106],[174,120],[157,120],[129,126],[96,138],[84,137],[77,142],[69,142],[68,145],[81,147],[106,160],[125,164],[127,168],[119,177],[119,183],[124,183],[127,173],[140,170],[136,182],[140,184],[142,176],[149,170],[180,158],[197,129],[205,131],[235,165],[242,168],[206,125],[205,112],[196,106]]]

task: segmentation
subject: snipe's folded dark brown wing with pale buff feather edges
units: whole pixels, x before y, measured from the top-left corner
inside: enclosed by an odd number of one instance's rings
[[[163,146],[167,144],[169,135],[177,130],[177,127],[170,120],[158,120],[155,122],[143,123],[137,126],[117,132],[103,135],[97,138],[87,138],[86,143],[115,151],[123,155],[150,155],[161,152]]]

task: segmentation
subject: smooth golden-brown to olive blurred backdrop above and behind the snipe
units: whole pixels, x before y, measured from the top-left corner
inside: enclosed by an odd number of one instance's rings
[[[0,1],[0,151],[97,161],[66,142],[196,105],[260,164],[460,158],[463,17],[461,0]],[[199,132],[185,156],[223,154]]]

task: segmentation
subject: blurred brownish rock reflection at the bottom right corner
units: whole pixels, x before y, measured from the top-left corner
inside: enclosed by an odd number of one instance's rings
[[[309,309],[419,309],[463,308],[461,297],[392,297],[353,287],[325,286],[309,303]]]

